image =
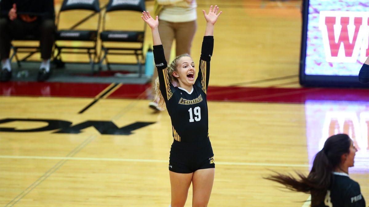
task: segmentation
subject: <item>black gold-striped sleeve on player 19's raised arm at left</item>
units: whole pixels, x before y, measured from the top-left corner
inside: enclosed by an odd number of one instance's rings
[[[173,92],[171,90],[172,83],[168,75],[168,66],[165,60],[163,45],[154,45],[154,50],[152,52],[154,53],[155,66],[158,69],[160,92],[164,100],[169,101]]]

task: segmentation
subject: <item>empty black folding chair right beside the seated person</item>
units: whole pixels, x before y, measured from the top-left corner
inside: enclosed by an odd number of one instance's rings
[[[96,22],[96,29],[94,30],[76,30],[75,27],[79,25],[77,23],[71,29],[68,30],[59,30],[59,21],[60,15],[63,11],[70,10],[90,10],[93,11],[93,14],[98,14],[99,19]],[[91,17],[90,15],[89,17]],[[89,18],[88,17],[88,18]],[[63,4],[60,8],[58,16],[56,17],[56,41],[82,41],[82,42],[90,42],[93,43],[93,46],[60,46],[55,42],[55,49],[57,51],[56,56],[54,57],[54,61],[57,66],[63,65],[61,53],[73,53],[73,54],[87,54],[89,56],[91,71],[94,73],[94,65],[96,63],[97,58],[97,36],[100,28],[100,4],[99,0],[85,0],[85,1],[76,1],[76,0],[64,0]],[[81,20],[80,22],[86,21]],[[72,50],[77,49],[78,51]],[[63,51],[62,51],[63,50]],[[93,55],[93,58],[92,58]]]

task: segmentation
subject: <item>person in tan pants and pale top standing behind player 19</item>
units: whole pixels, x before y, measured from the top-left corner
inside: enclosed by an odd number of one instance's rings
[[[191,45],[197,28],[196,0],[155,0],[154,13],[159,16],[159,35],[162,37],[164,54],[169,63],[173,40],[176,40],[176,56],[191,53]],[[158,72],[154,70],[151,85],[155,85]],[[155,94],[154,87],[152,94]],[[149,103],[158,110],[158,101]]]

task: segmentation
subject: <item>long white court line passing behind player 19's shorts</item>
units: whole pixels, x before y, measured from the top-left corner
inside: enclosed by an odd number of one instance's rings
[[[169,160],[159,159],[123,159],[123,158],[96,158],[96,157],[42,157],[42,156],[8,156],[0,155],[0,158],[8,159],[67,159],[67,160],[87,160],[87,161],[119,161],[119,162],[164,162]],[[278,167],[308,167],[305,164],[274,164],[258,162],[215,162],[218,165],[249,165],[249,166],[278,166]]]

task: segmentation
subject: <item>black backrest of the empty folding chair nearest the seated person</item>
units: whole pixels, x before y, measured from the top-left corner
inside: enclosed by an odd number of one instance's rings
[[[99,0],[64,0],[60,11],[75,9],[100,12]]]

